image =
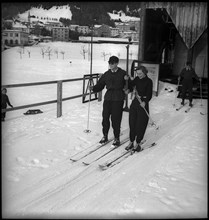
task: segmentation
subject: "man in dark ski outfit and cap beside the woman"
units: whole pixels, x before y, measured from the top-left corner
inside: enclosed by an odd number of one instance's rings
[[[111,56],[109,61],[110,69],[106,71],[97,84],[92,87],[93,92],[99,92],[106,86],[107,92],[104,96],[102,126],[103,138],[100,143],[108,141],[108,132],[110,128],[110,116],[114,133],[113,145],[120,145],[120,126],[123,113],[123,104],[125,99],[124,86],[126,72],[118,67],[119,59],[116,56]]]

